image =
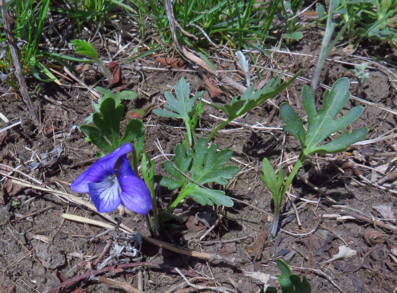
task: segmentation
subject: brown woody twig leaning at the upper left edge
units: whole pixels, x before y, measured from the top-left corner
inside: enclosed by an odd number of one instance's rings
[[[5,0],[0,0],[0,7],[1,7],[1,14],[3,17],[4,32],[6,33],[6,37],[8,40],[8,46],[10,47],[10,53],[11,53],[12,60],[14,63],[15,76],[17,77],[17,79],[19,81],[19,90],[21,92],[22,99],[27,106],[27,109],[28,109],[30,115],[32,116],[33,123],[35,124],[36,127],[40,127],[39,115],[38,115],[37,111],[35,111],[35,107],[33,106],[33,103],[29,97],[29,92],[27,90],[25,77],[23,76],[21,64],[19,63],[17,46],[15,45],[14,34],[13,34],[11,26],[10,26],[10,23],[12,22],[12,20],[11,20],[10,16],[8,15]]]

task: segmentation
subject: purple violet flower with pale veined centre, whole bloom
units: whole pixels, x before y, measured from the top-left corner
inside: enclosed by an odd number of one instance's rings
[[[147,214],[152,209],[150,191],[145,182],[135,176],[127,153],[133,150],[130,143],[98,159],[70,186],[75,192],[89,192],[99,213],[115,210],[120,203],[127,209]]]

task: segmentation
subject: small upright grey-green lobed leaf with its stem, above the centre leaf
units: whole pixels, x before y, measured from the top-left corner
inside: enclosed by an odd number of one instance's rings
[[[163,109],[154,109],[153,113],[162,117],[172,117],[182,119],[185,123],[186,133],[185,139],[187,147],[193,146],[193,142],[197,141],[195,127],[197,124],[198,115],[202,112],[202,100],[200,99],[195,106],[195,101],[200,98],[204,92],[198,92],[192,98],[189,98],[189,82],[186,82],[184,78],[179,80],[174,86],[175,94],[177,98],[170,92],[165,92],[166,104]]]

